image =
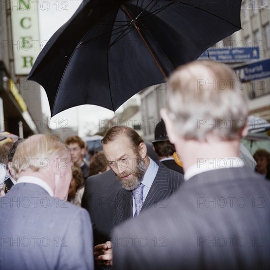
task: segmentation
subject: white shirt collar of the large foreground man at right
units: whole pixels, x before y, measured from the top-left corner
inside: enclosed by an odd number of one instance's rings
[[[224,168],[243,168],[245,162],[242,158],[231,157],[231,158],[219,158],[219,159],[198,159],[198,162],[188,168],[185,172],[184,179],[188,181],[191,177],[205,172],[216,169]]]

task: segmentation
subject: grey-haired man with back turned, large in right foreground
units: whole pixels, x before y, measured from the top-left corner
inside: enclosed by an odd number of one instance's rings
[[[213,61],[169,78],[162,118],[185,182],[166,208],[114,230],[115,242],[128,240],[113,246],[115,269],[269,269],[270,183],[239,158],[248,108],[237,85]]]

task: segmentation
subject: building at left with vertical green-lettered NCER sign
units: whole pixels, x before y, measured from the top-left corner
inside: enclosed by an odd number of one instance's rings
[[[0,130],[20,137],[48,132],[43,121],[40,86],[26,80],[40,52],[34,3],[0,1]]]

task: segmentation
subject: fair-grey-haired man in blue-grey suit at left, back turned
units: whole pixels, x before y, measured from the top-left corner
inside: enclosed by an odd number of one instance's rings
[[[12,159],[17,184],[0,198],[1,269],[93,269],[87,211],[66,202],[72,179],[66,145],[33,135]]]

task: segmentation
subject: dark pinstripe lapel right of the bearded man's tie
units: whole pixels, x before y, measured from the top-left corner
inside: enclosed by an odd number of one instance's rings
[[[171,193],[171,188],[168,182],[168,170],[162,164],[159,164],[159,169],[154,182],[143,202],[141,211],[149,208],[152,205],[162,207],[162,200],[168,197]],[[157,205],[158,203],[158,205]]]

